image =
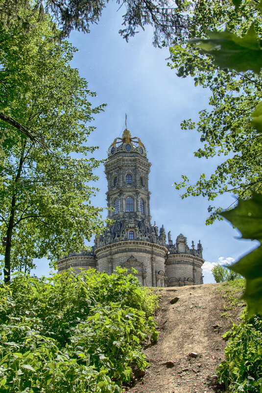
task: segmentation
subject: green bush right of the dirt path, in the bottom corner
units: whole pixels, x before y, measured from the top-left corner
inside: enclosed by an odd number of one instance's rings
[[[229,343],[217,374],[226,392],[262,392],[262,319],[244,321],[246,315],[245,311],[243,321],[223,336]]]

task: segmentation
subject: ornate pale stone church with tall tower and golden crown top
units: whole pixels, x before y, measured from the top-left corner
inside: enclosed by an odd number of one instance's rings
[[[112,274],[117,266],[136,270],[143,286],[174,287],[203,284],[202,245],[191,248],[187,238],[178,235],[175,243],[164,226],[151,224],[148,174],[151,164],[146,149],[125,128],[108,149],[105,162],[108,181],[108,218],[114,220],[95,239],[92,251],[73,252],[58,261],[58,272],[72,267],[94,268]]]

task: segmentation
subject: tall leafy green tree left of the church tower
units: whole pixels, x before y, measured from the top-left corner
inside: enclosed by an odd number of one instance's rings
[[[69,62],[76,49],[53,39],[48,16],[28,11],[27,34],[21,24],[0,27],[0,113],[23,124],[23,130],[0,118],[0,231],[5,280],[11,268],[47,256],[52,263],[103,225],[101,208],[91,205],[96,188],[92,171],[100,162],[96,147],[86,146],[94,130],[86,126],[102,110],[92,108],[85,79]],[[28,19],[29,20],[29,19]],[[16,262],[15,262],[16,259]],[[24,261],[24,262],[23,262]]]

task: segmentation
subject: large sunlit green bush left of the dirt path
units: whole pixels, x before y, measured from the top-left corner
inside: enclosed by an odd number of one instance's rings
[[[121,269],[17,275],[0,286],[1,393],[121,392],[147,366],[140,343],[157,338],[156,304]]]

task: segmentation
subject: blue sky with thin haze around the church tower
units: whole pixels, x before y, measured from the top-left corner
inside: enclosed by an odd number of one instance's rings
[[[211,204],[203,197],[180,198],[180,191],[173,186],[182,174],[187,174],[192,183],[201,173],[211,174],[221,157],[212,160],[193,156],[201,143],[196,130],[183,131],[180,123],[191,118],[197,121],[198,112],[208,108],[209,91],[194,87],[192,78],[178,78],[174,70],[167,67],[168,49],[152,46],[153,32],[146,27],[128,43],[118,34],[123,10],[119,5],[108,3],[98,25],[91,26],[90,34],[72,32],[71,43],[79,51],[72,66],[89,82],[89,88],[97,93],[92,98],[94,105],[107,103],[103,113],[95,116],[96,130],[89,144],[99,146],[96,158],[105,158],[114,138],[124,129],[125,113],[132,136],[139,137],[147,149],[151,162],[149,190],[151,191],[152,221],[166,233],[170,230],[172,240],[183,233],[191,246],[201,240],[204,265],[204,282],[213,282],[210,273],[214,263],[237,260],[255,242],[239,240],[239,233],[226,221],[216,221],[206,226],[207,208]],[[104,168],[96,174],[100,192],[93,203],[105,206],[107,182]],[[216,205],[227,207],[233,196],[217,198]],[[106,212],[105,212],[106,216]],[[37,275],[48,274],[46,262],[39,261]]]

